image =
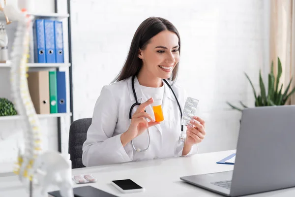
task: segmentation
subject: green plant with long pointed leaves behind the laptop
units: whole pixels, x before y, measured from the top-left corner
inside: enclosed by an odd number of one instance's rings
[[[259,85],[260,85],[260,94],[256,94],[255,88],[249,78],[249,76],[245,73],[247,79],[249,80],[254,97],[255,97],[255,107],[258,106],[275,106],[275,105],[285,105],[286,101],[289,99],[289,97],[295,93],[295,88],[288,94],[288,91],[290,89],[290,85],[292,82],[292,78],[286,88],[285,91],[282,90],[283,84],[281,84],[279,88],[279,81],[280,77],[282,75],[282,64],[280,59],[278,58],[278,73],[276,78],[274,77],[273,74],[273,61],[271,63],[271,72],[268,74],[268,91],[266,94],[266,87],[264,85],[264,82],[262,80],[261,76],[261,70],[259,71]],[[247,106],[242,102],[239,101],[242,107],[247,108]],[[227,104],[230,105],[233,109],[242,111],[243,109],[240,107],[236,107],[235,105],[231,104],[230,102],[227,101]]]

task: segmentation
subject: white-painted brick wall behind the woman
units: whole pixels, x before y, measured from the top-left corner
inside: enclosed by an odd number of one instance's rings
[[[72,0],[74,119],[91,117],[102,86],[123,65],[133,34],[149,16],[170,20],[181,36],[178,80],[200,100],[207,136],[201,152],[236,147],[240,113],[254,105],[246,71],[258,84],[268,66],[267,0]],[[264,74],[266,76],[266,74]]]

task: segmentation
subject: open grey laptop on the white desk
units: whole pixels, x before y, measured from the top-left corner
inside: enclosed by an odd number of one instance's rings
[[[234,170],[180,179],[228,197],[295,187],[295,105],[244,109]]]

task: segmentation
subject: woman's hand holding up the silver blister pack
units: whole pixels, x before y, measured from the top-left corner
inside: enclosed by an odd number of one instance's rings
[[[205,121],[201,119],[200,117],[194,116],[194,120],[190,121],[190,124],[193,125],[193,127],[187,125],[186,130],[186,141],[185,143],[188,146],[192,146],[194,144],[200,143],[205,135]]]

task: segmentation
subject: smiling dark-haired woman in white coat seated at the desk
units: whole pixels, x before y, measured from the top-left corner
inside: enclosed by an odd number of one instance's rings
[[[194,117],[179,141],[186,93],[176,83],[180,37],[169,21],[150,17],[137,29],[126,62],[96,101],[83,144],[85,166],[189,156],[206,134]],[[161,100],[164,120],[155,122],[151,104]]]

